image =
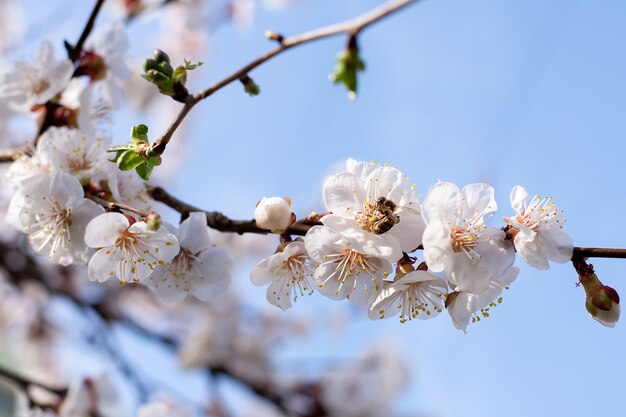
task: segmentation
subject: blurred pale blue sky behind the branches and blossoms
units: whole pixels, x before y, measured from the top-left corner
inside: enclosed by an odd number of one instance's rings
[[[44,39],[62,56],[62,40],[76,39],[92,6],[5,3],[13,16],[3,35],[10,39],[3,45],[6,62],[32,56]],[[122,3],[109,5],[98,25],[123,17]],[[155,48],[203,61],[189,77],[190,90],[197,91],[272,48],[263,36],[267,29],[293,35],[380,3],[240,2],[234,19],[216,13],[219,7],[196,16],[203,17],[204,30],[187,21],[180,25],[176,19],[182,17],[163,7],[128,24],[130,55],[137,72]],[[424,195],[437,180],[493,185],[499,204],[493,226],[511,214],[509,192],[521,184],[531,194],[553,196],[565,210],[575,245],[626,247],[620,168],[626,155],[625,19],[626,3],[620,1],[419,2],[359,37],[366,71],[356,101],[328,80],[345,38],[298,47],[250,74],[261,87],[259,96],[249,97],[235,83],[198,105],[153,181],[197,207],[237,219],[253,217],[263,196],[290,196],[302,218],[323,211],[324,178],[347,158],[376,160],[396,165]],[[184,38],[171,27],[177,22],[188,29]],[[152,86],[142,82],[137,77],[129,87],[131,102],[148,97]],[[174,119],[179,104],[164,96],[150,100],[112,115],[114,141],[126,142],[138,123],[148,124],[156,137]],[[12,125],[18,139],[29,138],[29,128],[35,131],[27,123]],[[175,213],[166,216],[178,220]],[[324,377],[327,369],[379,349],[402,364],[383,367],[402,387],[391,401],[397,415],[620,413],[626,335],[621,324],[608,329],[589,317],[571,264],[538,271],[518,260],[521,273],[503,303],[463,334],[445,312],[402,325],[396,318],[370,321],[353,305],[318,294],[281,312],[265,301],[265,288],[249,281],[277,238],[213,237],[235,261],[229,297],[245,305],[242,314],[267,315],[278,327],[288,322],[270,351],[283,378]],[[626,290],[626,261],[590,262],[605,284]],[[53,311],[57,318],[76,316],[64,305]],[[133,366],[148,379],[167,381],[160,391],[183,403],[202,402],[209,384],[203,375],[180,371],[171,352],[132,331],[116,337],[116,348],[132,352]],[[81,350],[75,344],[64,349]],[[89,359],[79,352],[73,358],[68,363],[82,371],[109,366],[98,355]],[[233,415],[257,407],[234,383],[219,389]],[[375,386],[371,390],[383,395]],[[344,398],[360,401],[349,393]]]

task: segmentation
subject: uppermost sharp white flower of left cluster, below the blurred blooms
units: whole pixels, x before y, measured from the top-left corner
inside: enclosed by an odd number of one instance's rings
[[[76,129],[51,127],[39,138],[36,152],[53,170],[89,180],[105,170],[106,147],[107,142],[100,137],[87,137]]]

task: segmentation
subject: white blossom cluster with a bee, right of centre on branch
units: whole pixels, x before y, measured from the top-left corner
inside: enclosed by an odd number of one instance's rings
[[[497,228],[488,225],[498,208],[490,185],[438,182],[421,203],[414,188],[395,167],[348,160],[324,184],[320,224],[261,261],[252,282],[269,283],[267,299],[282,309],[317,290],[367,308],[371,319],[430,319],[445,308],[465,331],[517,278],[516,254],[539,269],[572,258],[563,212],[550,197],[514,187],[512,213]],[[264,220],[276,217],[269,230],[280,228],[281,213],[290,215],[282,207],[266,213],[271,208],[263,212]],[[415,267],[409,254],[417,249],[424,262]]]

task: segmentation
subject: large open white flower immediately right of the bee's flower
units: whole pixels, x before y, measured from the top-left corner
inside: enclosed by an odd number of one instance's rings
[[[493,188],[451,183],[431,187],[422,204],[426,221],[424,258],[429,270],[444,271],[455,291],[483,293],[513,265],[513,245],[502,230],[485,225],[497,209]]]

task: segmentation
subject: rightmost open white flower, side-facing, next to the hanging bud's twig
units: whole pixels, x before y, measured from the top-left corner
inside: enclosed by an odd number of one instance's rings
[[[565,263],[572,258],[574,242],[565,231],[565,220],[551,201],[551,197],[530,195],[524,187],[516,185],[511,191],[511,206],[515,216],[505,217],[504,221],[513,226],[513,243],[517,253],[538,269],[548,269],[548,259]]]

